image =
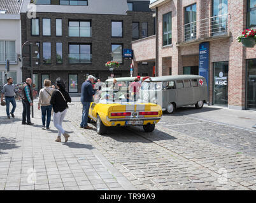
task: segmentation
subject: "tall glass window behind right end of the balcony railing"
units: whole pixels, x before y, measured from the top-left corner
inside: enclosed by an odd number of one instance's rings
[[[213,17],[211,18],[211,34],[225,34],[227,31],[227,0],[213,0]]]

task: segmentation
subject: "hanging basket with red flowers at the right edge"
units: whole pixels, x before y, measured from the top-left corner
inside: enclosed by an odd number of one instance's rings
[[[246,48],[253,48],[256,43],[256,30],[246,29],[242,32],[241,36],[236,39],[239,43],[242,43]]]

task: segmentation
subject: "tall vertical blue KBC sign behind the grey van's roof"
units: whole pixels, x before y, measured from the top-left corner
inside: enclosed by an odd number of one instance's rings
[[[199,75],[206,79],[209,87],[209,43],[199,44]]]

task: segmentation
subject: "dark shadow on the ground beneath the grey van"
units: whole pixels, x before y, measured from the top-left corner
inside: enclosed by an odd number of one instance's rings
[[[177,108],[173,114],[168,114],[165,111],[165,112],[163,112],[163,115],[181,116],[181,115],[198,114],[198,113],[203,113],[203,112],[211,112],[213,110],[220,110],[220,109],[222,109],[222,108],[203,107],[203,108],[197,109],[193,106],[187,106],[187,107]]]

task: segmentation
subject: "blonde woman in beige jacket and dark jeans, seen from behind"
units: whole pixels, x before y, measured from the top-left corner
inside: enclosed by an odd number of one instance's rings
[[[50,104],[50,100],[52,97],[52,93],[54,91],[54,86],[50,87],[51,81],[45,79],[43,81],[44,88],[40,89],[39,91],[39,100],[38,100],[38,110],[42,112],[42,129],[50,129],[50,121],[51,121],[51,114],[52,114],[52,105]],[[46,119],[47,117],[47,119]],[[45,128],[45,119],[46,119],[46,128]]]

